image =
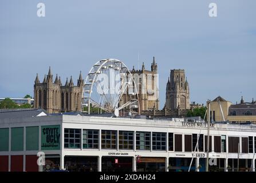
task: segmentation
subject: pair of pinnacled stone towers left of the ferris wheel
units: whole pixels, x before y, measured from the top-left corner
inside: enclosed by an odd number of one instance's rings
[[[52,71],[49,67],[48,75],[45,75],[41,83],[38,74],[34,83],[34,108],[45,109],[48,113],[80,112],[81,96],[84,79],[80,72],[77,86],[74,86],[72,76],[62,86],[61,78],[56,74],[53,82]]]

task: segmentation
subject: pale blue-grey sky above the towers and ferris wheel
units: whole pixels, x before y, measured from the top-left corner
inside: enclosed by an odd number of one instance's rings
[[[45,17],[37,16],[37,3]],[[217,17],[209,17],[210,3]],[[0,98],[33,96],[38,73],[76,81],[117,58],[151,69],[155,56],[163,108],[171,69],[185,69],[190,101],[219,95],[256,100],[255,0],[1,0]],[[139,57],[138,57],[139,55]]]

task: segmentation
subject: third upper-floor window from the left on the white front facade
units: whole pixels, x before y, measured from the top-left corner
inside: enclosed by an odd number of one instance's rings
[[[116,149],[117,132],[113,130],[101,131],[101,148]]]

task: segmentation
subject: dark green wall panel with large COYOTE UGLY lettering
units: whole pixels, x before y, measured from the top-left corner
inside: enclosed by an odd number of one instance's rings
[[[41,149],[60,150],[60,125],[41,126]]]

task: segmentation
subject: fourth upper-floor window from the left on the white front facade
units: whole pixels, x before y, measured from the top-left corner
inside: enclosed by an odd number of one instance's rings
[[[119,149],[133,149],[133,132],[119,131]]]

